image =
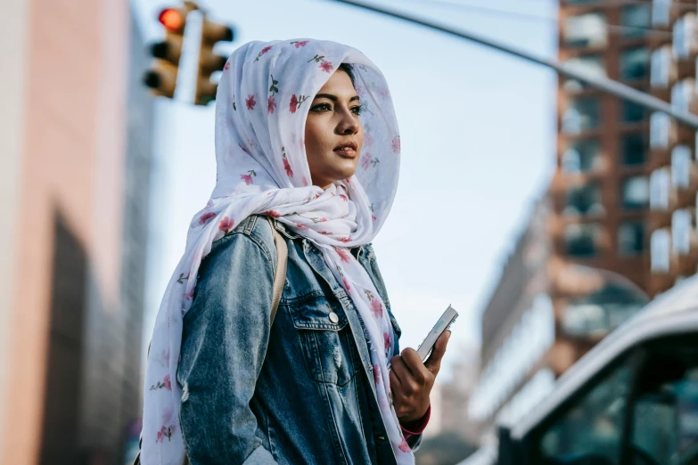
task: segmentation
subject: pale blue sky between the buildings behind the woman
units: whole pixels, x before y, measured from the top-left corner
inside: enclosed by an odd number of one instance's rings
[[[176,5],[132,0],[146,40],[162,34],[157,13]],[[552,57],[552,0],[373,2],[415,12],[522,50]],[[250,40],[296,37],[356,47],[390,85],[402,143],[398,193],[374,248],[403,334],[417,347],[451,304],[460,313],[439,380],[480,344],[480,314],[533,202],[554,166],[555,76],[541,66],[432,29],[331,0],[200,2],[230,24],[231,53]],[[469,7],[470,5],[470,7]],[[477,8],[473,8],[477,7]],[[156,104],[151,252],[144,337],[185,248],[192,216],[216,180],[214,108]],[[476,354],[476,352],[474,353]]]

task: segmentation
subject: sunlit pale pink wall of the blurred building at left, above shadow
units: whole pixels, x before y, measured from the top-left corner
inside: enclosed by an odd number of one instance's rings
[[[53,208],[118,308],[127,75],[127,0],[27,0],[20,237],[9,331],[3,463],[35,464],[51,298]]]

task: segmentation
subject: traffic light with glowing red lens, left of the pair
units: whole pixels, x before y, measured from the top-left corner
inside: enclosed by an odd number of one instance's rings
[[[166,8],[160,12],[158,20],[165,27],[166,36],[163,42],[152,45],[151,53],[155,62],[144,76],[145,85],[150,87],[154,94],[170,99],[175,96],[186,15],[198,9],[193,2],[185,2],[180,8]]]

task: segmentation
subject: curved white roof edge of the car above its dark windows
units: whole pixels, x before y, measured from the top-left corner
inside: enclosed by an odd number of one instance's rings
[[[661,336],[691,332],[698,332],[698,275],[679,282],[671,290],[654,298],[574,363],[557,380],[546,400],[512,428],[512,437],[520,439],[525,436],[630,347]]]

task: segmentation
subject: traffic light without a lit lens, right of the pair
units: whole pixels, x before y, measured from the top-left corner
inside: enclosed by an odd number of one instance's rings
[[[199,49],[199,71],[196,78],[194,104],[208,105],[216,100],[218,84],[211,81],[211,74],[226,66],[227,57],[213,52],[218,42],[233,40],[233,29],[203,17],[201,25],[201,48]]]

